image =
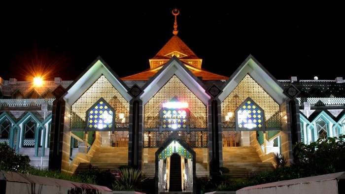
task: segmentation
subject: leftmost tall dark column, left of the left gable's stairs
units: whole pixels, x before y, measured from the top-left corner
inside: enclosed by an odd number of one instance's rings
[[[49,169],[61,170],[62,142],[64,135],[65,100],[61,97],[53,102],[50,128]]]

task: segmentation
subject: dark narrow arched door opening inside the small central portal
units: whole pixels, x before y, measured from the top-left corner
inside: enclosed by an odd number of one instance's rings
[[[170,157],[170,187],[169,192],[181,192],[181,157],[178,154],[173,154]]]

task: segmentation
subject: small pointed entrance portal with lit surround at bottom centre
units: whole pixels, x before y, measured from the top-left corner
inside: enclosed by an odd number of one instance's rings
[[[156,152],[157,193],[193,193],[196,189],[195,157],[193,149],[178,134],[169,137]]]

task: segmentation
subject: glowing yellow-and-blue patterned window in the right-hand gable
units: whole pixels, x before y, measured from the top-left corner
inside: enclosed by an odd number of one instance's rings
[[[236,109],[237,129],[264,129],[264,111],[250,97]]]

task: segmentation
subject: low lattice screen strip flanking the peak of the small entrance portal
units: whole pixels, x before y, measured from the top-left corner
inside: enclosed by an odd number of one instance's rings
[[[144,147],[160,147],[170,134],[171,131],[145,131]],[[178,134],[191,147],[207,147],[207,131],[178,131]]]

